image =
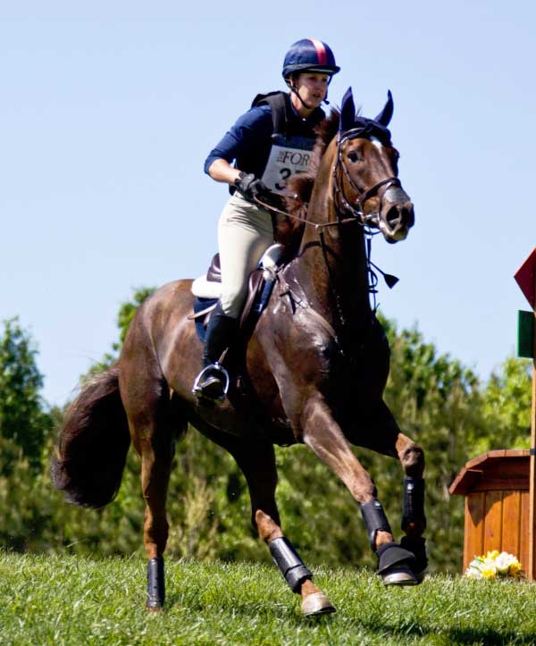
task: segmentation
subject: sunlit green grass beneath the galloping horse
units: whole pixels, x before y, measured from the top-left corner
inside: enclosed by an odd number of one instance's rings
[[[167,604],[144,609],[146,563],[0,552],[8,644],[342,646],[535,644],[536,584],[444,575],[384,589],[366,570],[318,569],[339,612],[306,619],[274,567],[166,561]]]

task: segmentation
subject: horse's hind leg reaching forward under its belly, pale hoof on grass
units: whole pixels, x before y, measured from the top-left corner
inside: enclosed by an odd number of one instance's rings
[[[268,545],[272,558],[290,590],[301,594],[301,609],[307,617],[335,612],[335,607],[320,588],[313,575],[281,530],[275,488],[277,470],[271,443],[237,442],[226,447],[246,476],[251,498],[251,522],[260,538]]]

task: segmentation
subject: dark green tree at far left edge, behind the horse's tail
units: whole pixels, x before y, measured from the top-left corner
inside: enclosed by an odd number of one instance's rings
[[[0,339],[0,436],[19,447],[29,465],[38,468],[52,420],[39,391],[43,375],[36,365],[38,354],[29,333],[18,318],[4,321]],[[9,464],[4,463],[4,470]]]

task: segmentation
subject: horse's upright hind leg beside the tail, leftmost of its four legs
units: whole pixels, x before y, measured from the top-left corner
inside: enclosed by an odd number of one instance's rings
[[[143,377],[138,380],[141,382]],[[166,498],[175,440],[186,430],[186,423],[172,415],[172,402],[165,382],[147,383],[143,393],[125,394],[134,447],[141,457],[141,489],[146,502],[143,534],[149,559],[147,564],[147,608],[159,610],[165,599],[163,551],[169,524]]]

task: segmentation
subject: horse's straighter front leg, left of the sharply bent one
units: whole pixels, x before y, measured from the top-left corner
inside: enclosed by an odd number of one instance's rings
[[[306,402],[301,427],[303,440],[322,462],[330,466],[346,484],[359,503],[371,548],[378,557],[378,574],[386,585],[415,585],[419,583],[412,572],[414,554],[394,541],[389,521],[376,487],[354,455],[339,424],[320,394]]]

